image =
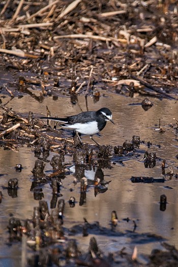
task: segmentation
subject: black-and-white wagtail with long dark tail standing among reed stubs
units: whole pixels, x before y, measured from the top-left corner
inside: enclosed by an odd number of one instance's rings
[[[77,134],[85,134],[90,135],[90,138],[99,145],[94,139],[93,135],[99,133],[106,126],[106,122],[112,121],[112,112],[103,107],[98,111],[85,111],[81,112],[77,115],[69,116],[66,118],[58,118],[58,117],[41,117],[46,120],[53,120],[63,122],[61,127],[69,128],[75,130]],[[78,135],[79,136],[79,135]],[[80,139],[80,136],[79,136]],[[81,139],[80,139],[81,141]]]

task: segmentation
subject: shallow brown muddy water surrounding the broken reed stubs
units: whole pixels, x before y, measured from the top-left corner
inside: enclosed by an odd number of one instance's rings
[[[2,99],[3,104],[8,98]],[[88,97],[88,109],[97,110],[101,107],[108,107],[112,110],[113,120],[115,125],[107,123],[100,137],[95,137],[95,140],[100,144],[122,145],[125,140],[131,140],[133,135],[139,135],[145,143],[140,144],[140,148],[135,151],[135,157],[124,157],[122,163],[118,157],[111,157],[111,169],[103,169],[104,179],[111,181],[108,190],[103,194],[94,195],[94,187],[88,186],[86,192],[86,203],[79,206],[80,183],[75,187],[73,185],[73,174],[67,175],[63,180],[63,188],[61,193],[65,199],[65,214],[64,224],[72,226],[74,224],[83,223],[83,217],[88,222],[99,221],[100,225],[109,227],[111,211],[115,210],[118,216],[118,229],[120,231],[133,230],[133,222],[136,221],[137,233],[155,233],[163,236],[168,243],[178,247],[178,196],[177,196],[177,181],[175,177],[165,183],[143,184],[131,183],[131,176],[152,176],[154,178],[162,177],[161,163],[166,160],[166,171],[172,167],[173,172],[177,172],[178,161],[175,158],[177,155],[177,139],[175,131],[169,125],[175,124],[177,119],[177,103],[171,100],[151,99],[154,106],[144,111],[140,105],[143,98],[125,98],[120,95],[107,94],[101,97],[99,102],[94,103],[91,97]],[[139,104],[138,104],[139,103]],[[134,104],[134,105],[131,105]],[[73,115],[86,110],[84,97],[78,97],[78,103],[73,106],[69,98],[59,97],[56,101],[52,97],[46,97],[42,103],[39,103],[29,96],[12,99],[7,107],[13,108],[16,112],[27,114],[29,110],[33,111],[34,116],[46,114],[46,105],[51,111],[51,115],[58,116]],[[17,110],[18,107],[18,110]],[[160,134],[155,131],[161,126],[165,133]],[[69,133],[66,133],[69,135]],[[91,142],[90,138],[83,136],[84,142]],[[146,143],[150,141],[153,145],[148,148]],[[157,156],[156,166],[154,168],[145,168],[143,157],[145,151],[155,152]],[[21,244],[7,245],[7,225],[9,214],[20,219],[32,218],[33,207],[38,206],[38,201],[34,200],[33,192],[29,189],[32,183],[32,169],[37,158],[34,156],[33,148],[19,146],[18,151],[0,150],[1,154],[1,176],[0,186],[7,186],[10,178],[19,180],[18,197],[12,198],[8,196],[7,190],[3,190],[3,200],[0,211],[0,237],[1,237],[1,252],[0,266],[19,266]],[[50,153],[50,160],[55,153]],[[73,159],[70,156],[65,157],[65,163],[73,165]],[[22,164],[22,171],[16,172],[15,165]],[[51,170],[49,163],[45,163],[45,171]],[[93,174],[87,173],[87,175]],[[172,189],[165,188],[165,186]],[[70,188],[73,191],[70,191]],[[50,205],[51,188],[47,184],[43,187],[44,200]],[[164,212],[160,211],[160,195],[167,196],[167,205]],[[76,198],[76,205],[71,208],[68,204],[70,196]],[[126,222],[123,219],[129,217],[130,221]],[[91,235],[86,238],[77,236],[79,247],[84,250],[88,247]],[[149,254],[153,248],[160,248],[160,242],[144,242],[144,240],[134,240],[128,235],[122,236],[97,236],[97,241],[100,248],[105,251],[116,251],[126,247],[128,252],[132,252],[136,244],[138,253]]]

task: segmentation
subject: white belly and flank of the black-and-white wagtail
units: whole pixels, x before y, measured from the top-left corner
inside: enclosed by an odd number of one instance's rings
[[[74,129],[76,132],[86,135],[93,135],[99,133],[98,123],[89,122],[87,124],[76,123],[73,126],[63,126],[65,128]]]

